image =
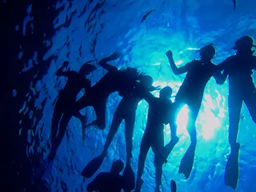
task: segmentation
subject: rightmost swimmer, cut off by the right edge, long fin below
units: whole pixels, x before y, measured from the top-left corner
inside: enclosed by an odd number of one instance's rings
[[[235,55],[228,57],[218,67],[223,72],[223,83],[228,76],[229,95],[228,112],[229,128],[228,138],[231,147],[231,154],[225,171],[225,184],[233,189],[237,188],[239,177],[239,148],[237,134],[239,130],[240,113],[243,101],[246,104],[253,121],[256,123],[256,88],[253,83],[252,74],[256,68],[256,56],[253,56],[253,38],[243,36],[236,41]]]

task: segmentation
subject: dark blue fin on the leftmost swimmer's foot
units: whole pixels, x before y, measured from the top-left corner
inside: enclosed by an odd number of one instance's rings
[[[51,173],[53,166],[53,159],[45,159],[45,161],[36,168],[35,176],[36,179],[45,180],[46,177]]]

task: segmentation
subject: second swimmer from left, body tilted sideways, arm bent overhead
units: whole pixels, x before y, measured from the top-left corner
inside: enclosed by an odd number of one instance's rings
[[[108,61],[117,60],[118,56],[120,56],[120,53],[114,52],[108,58],[99,61],[99,65],[108,70],[108,73],[76,102],[76,113],[87,106],[92,106],[95,110],[96,120],[86,125],[86,127],[97,125],[99,129],[105,129],[106,103],[109,95],[113,92],[119,92],[133,87],[136,80],[140,77],[136,68],[127,67],[118,70],[118,68],[107,63]],[[141,76],[143,76],[143,74],[141,74]]]

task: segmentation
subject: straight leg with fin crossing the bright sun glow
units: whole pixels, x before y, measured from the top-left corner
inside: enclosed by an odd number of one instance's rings
[[[195,104],[189,104],[189,119],[188,119],[188,133],[190,137],[191,144],[189,145],[188,150],[186,151],[184,157],[180,162],[179,173],[184,173],[186,179],[189,178],[189,175],[193,168],[194,158],[195,158],[195,149],[196,149],[196,118],[200,110],[199,102]]]

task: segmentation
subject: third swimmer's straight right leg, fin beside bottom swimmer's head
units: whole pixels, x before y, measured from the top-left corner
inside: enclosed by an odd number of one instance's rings
[[[133,111],[132,111],[133,112]],[[128,113],[125,117],[125,141],[126,141],[126,166],[124,169],[123,177],[125,179],[125,186],[128,190],[134,190],[135,188],[135,175],[131,167],[132,158],[132,136],[135,124],[136,111]]]

